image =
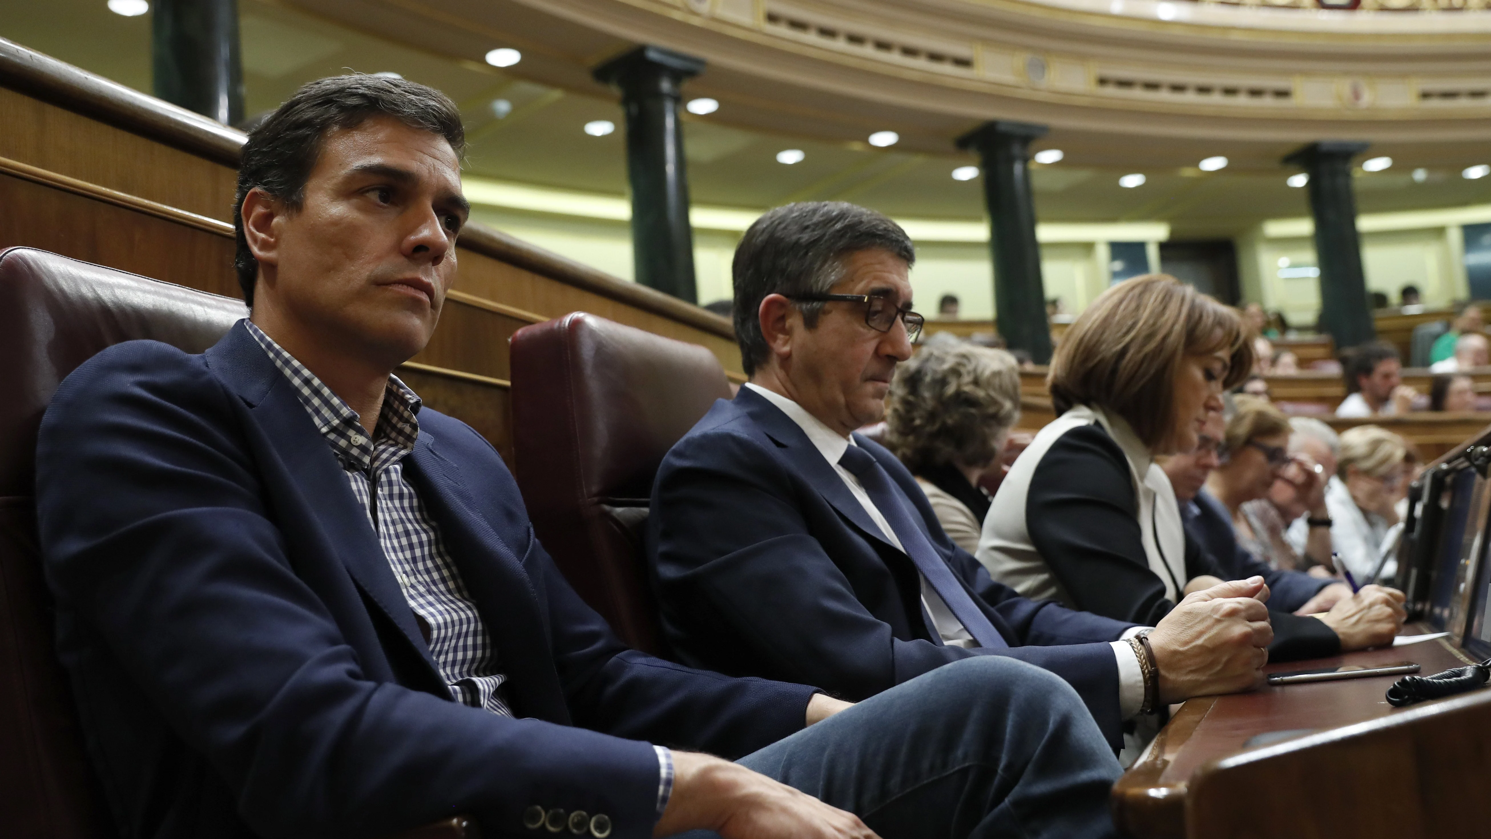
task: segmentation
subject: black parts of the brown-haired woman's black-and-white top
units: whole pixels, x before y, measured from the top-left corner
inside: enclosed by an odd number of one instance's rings
[[[1099,423],[1074,428],[1054,441],[1026,493],[1030,541],[1077,607],[1154,626],[1175,604],[1150,569],[1138,510],[1129,460]],[[1185,580],[1203,574],[1235,578],[1187,532]],[[1340,653],[1340,638],[1318,618],[1270,610],[1269,620],[1270,660]]]

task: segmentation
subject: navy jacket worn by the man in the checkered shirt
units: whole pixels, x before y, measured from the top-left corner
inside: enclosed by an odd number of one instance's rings
[[[110,347],[37,446],[58,650],[125,836],[364,836],[532,805],[656,821],[653,741],[741,756],[813,688],[626,650],[534,538],[497,452],[419,411],[409,481],[498,650],[516,717],[450,699],[367,514],[240,323],[204,355]]]

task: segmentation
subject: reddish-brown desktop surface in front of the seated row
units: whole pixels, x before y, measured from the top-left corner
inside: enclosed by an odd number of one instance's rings
[[[1431,632],[1405,627],[1405,635]],[[1269,665],[1269,672],[1334,668],[1345,663],[1382,666],[1418,662],[1419,675],[1472,663],[1448,639],[1408,647],[1348,653],[1334,659]],[[1141,839],[1179,839],[1185,833],[1185,797],[1199,769],[1242,753],[1276,745],[1281,739],[1248,745],[1257,735],[1297,732],[1297,736],[1352,726],[1412,708],[1393,708],[1384,699],[1399,677],[1370,677],[1336,683],[1266,686],[1254,693],[1191,699],[1164,726],[1138,763],[1114,785],[1114,820],[1118,829]],[[1448,700],[1440,700],[1448,702]],[[1421,703],[1413,708],[1421,708]],[[1246,797],[1248,790],[1238,790]]]

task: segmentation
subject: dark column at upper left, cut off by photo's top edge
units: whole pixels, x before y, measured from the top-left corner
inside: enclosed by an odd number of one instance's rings
[[[237,0],[154,0],[155,95],[218,122],[243,121]]]

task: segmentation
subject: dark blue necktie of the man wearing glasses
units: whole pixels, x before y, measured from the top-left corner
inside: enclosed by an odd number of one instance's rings
[[[907,551],[907,556],[915,563],[917,571],[932,584],[932,590],[942,598],[947,608],[963,624],[963,629],[974,636],[974,641],[980,647],[996,650],[1009,647],[1003,636],[999,635],[999,630],[994,629],[994,624],[989,623],[989,617],[978,608],[974,598],[969,596],[968,589],[953,577],[953,569],[947,566],[942,554],[932,547],[921,528],[917,528],[915,522],[912,522],[907,502],[902,501],[902,493],[892,486],[890,475],[875,460],[875,456],[859,446],[850,446],[844,450],[844,456],[839,458],[839,465],[859,478],[860,486],[869,495],[869,501],[875,504],[880,514],[890,523],[890,529],[896,534],[896,538],[901,539],[902,550]]]

